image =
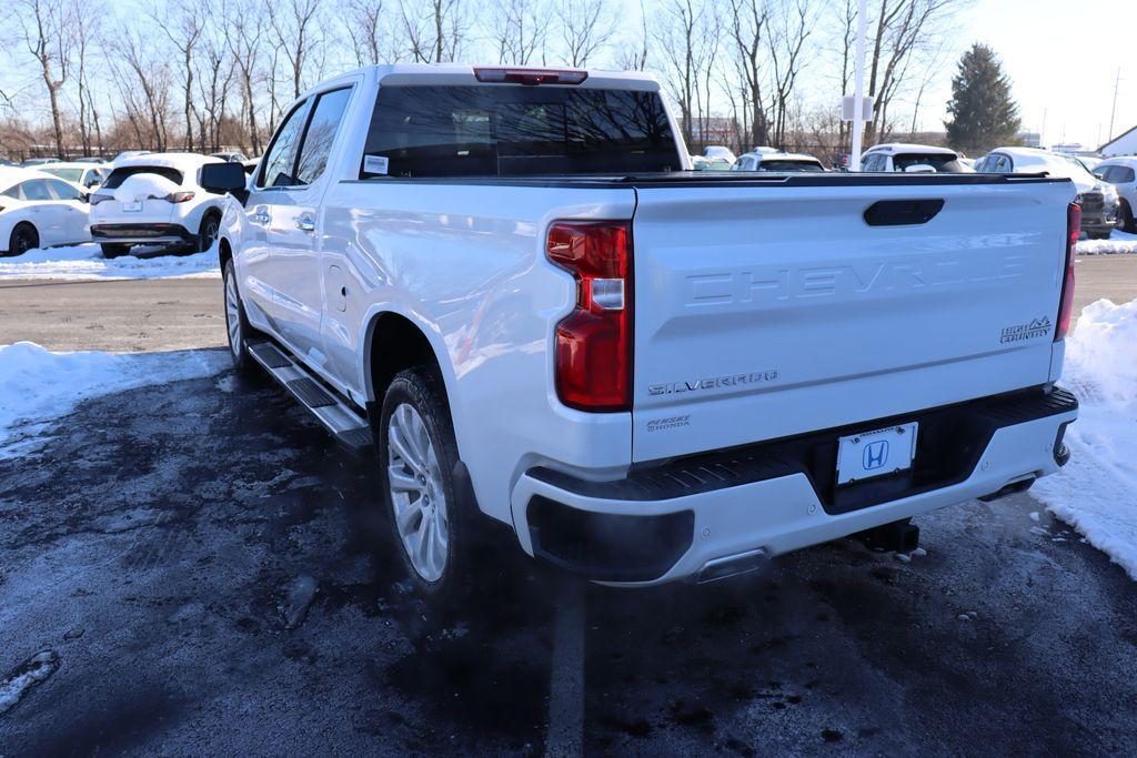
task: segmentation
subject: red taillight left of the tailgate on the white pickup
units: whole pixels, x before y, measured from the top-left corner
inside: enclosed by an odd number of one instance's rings
[[[630,224],[557,222],[549,227],[546,251],[576,278],[576,307],[556,327],[557,395],[580,410],[630,410]]]

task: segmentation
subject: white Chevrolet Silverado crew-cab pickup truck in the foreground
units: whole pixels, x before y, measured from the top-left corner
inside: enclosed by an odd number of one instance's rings
[[[476,570],[479,511],[598,582],[709,581],[911,547],[1069,457],[1068,180],[687,155],[641,74],[380,66],[304,94],[248,185],[202,168],[236,366],[374,449],[424,594]]]

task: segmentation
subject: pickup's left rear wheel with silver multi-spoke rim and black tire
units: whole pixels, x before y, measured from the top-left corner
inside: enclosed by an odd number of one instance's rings
[[[445,398],[431,373],[402,370],[383,397],[377,430],[381,497],[398,563],[434,616],[463,594],[473,539]]]

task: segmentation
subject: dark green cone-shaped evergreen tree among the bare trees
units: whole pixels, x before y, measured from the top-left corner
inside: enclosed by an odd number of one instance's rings
[[[947,113],[947,142],[956,150],[977,156],[1013,142],[1019,106],[1011,99],[1011,81],[994,50],[974,44],[963,53]]]

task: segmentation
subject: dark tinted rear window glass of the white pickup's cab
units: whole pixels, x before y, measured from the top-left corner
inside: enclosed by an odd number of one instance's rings
[[[656,92],[381,86],[360,177],[380,176],[384,169],[391,176],[437,177],[679,168],[671,125]]]

